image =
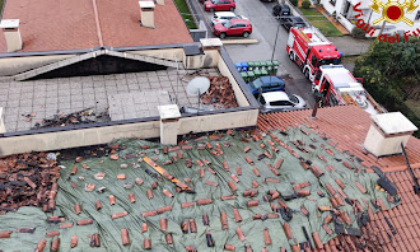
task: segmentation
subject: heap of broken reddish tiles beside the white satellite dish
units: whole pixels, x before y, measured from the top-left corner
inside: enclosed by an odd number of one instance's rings
[[[212,104],[216,108],[238,107],[232,85],[226,76],[213,76],[208,78],[210,79],[210,88],[201,96],[201,101],[204,104]]]

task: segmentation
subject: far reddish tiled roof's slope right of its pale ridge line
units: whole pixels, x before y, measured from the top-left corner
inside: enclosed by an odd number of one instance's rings
[[[138,1],[101,0],[98,1],[98,12],[104,45],[124,47],[193,42],[173,0],[165,0],[164,6],[155,5],[154,29],[139,25]]]

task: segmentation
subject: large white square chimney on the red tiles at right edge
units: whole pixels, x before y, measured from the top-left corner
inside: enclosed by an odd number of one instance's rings
[[[401,154],[401,143],[418,130],[401,112],[372,115],[372,124],[363,147],[376,157]]]

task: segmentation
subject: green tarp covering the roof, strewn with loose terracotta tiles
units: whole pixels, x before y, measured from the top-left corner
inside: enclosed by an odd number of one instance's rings
[[[57,223],[22,246],[299,251],[323,249],[337,234],[366,246],[359,227],[399,202],[377,187],[378,175],[309,128],[250,133],[174,147],[120,140],[108,157],[63,162],[56,209],[44,217]],[[1,226],[19,214],[0,217]],[[1,247],[15,246],[12,225],[1,230],[12,232]]]

